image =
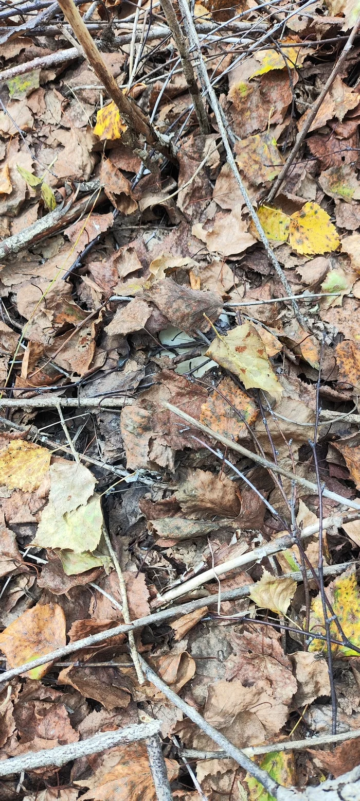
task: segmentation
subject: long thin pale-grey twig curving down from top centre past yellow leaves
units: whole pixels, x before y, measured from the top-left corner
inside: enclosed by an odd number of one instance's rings
[[[260,237],[260,239],[262,241],[262,244],[263,244],[263,246],[264,246],[264,248],[266,250],[266,255],[268,256],[271,264],[273,264],[273,266],[274,266],[274,268],[275,268],[275,270],[277,272],[278,278],[281,280],[282,286],[286,290],[286,294],[291,296],[290,284],[289,284],[289,282],[288,282],[288,280],[286,278],[286,275],[285,275],[284,271],[282,270],[281,265],[278,263],[278,259],[276,258],[275,254],[274,254],[274,251],[272,250],[272,248],[270,248],[269,240],[266,237],[265,231],[263,231],[263,229],[262,229],[262,225],[260,223],[260,220],[258,219],[258,215],[257,215],[256,211],[254,210],[254,206],[251,203],[250,197],[249,197],[249,195],[247,194],[247,191],[246,191],[246,187],[244,186],[244,183],[242,182],[242,178],[241,178],[240,173],[238,171],[238,167],[236,166],[234,155],[233,155],[233,152],[232,152],[231,147],[230,147],[229,137],[228,137],[228,135],[226,133],[226,129],[225,129],[224,123],[222,121],[222,111],[221,111],[221,108],[220,108],[219,103],[218,103],[218,98],[217,98],[217,95],[215,94],[214,88],[211,86],[210,78],[209,78],[209,76],[207,74],[206,65],[205,65],[205,62],[204,62],[204,59],[203,59],[203,56],[202,56],[202,50],[201,50],[200,42],[198,40],[198,34],[197,34],[196,30],[195,30],[194,20],[193,20],[193,18],[191,16],[190,7],[188,6],[188,3],[186,2],[186,0],[178,0],[178,6],[179,6],[179,8],[180,8],[180,10],[182,12],[182,16],[184,18],[184,25],[186,27],[186,33],[187,33],[188,38],[189,38],[190,46],[191,46],[191,48],[193,50],[195,50],[195,52],[197,53],[197,56],[198,56],[198,62],[197,62],[198,76],[200,78],[202,86],[206,88],[206,92],[207,92],[207,95],[209,97],[211,106],[213,107],[214,115],[215,115],[215,118],[216,118],[216,122],[218,123],[218,131],[219,131],[219,133],[220,133],[220,135],[222,137],[222,142],[224,143],[224,147],[225,147],[225,150],[226,150],[227,162],[229,163],[230,168],[231,168],[231,170],[232,170],[232,172],[234,174],[234,178],[235,178],[236,182],[238,183],[238,187],[239,187],[239,189],[240,189],[240,191],[242,193],[242,197],[245,200],[246,206],[247,206],[247,208],[249,210],[250,217],[253,220],[254,226],[255,226],[256,230],[258,231],[258,235],[259,235],[259,237]],[[302,316],[302,312],[300,312],[300,309],[298,308],[298,304],[297,304],[296,300],[292,300],[291,303],[292,303],[292,307],[294,309],[294,314],[297,317],[299,324],[302,326],[302,328],[304,330],[307,331],[306,320]]]

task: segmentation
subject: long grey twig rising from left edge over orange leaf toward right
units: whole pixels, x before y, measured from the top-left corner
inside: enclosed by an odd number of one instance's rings
[[[326,520],[323,521],[324,526],[326,525],[341,525],[341,522],[348,521],[349,518],[354,520],[354,515],[344,515],[344,517],[328,517]],[[316,533],[317,526],[310,525],[304,529],[306,532],[306,536],[309,537],[311,533]],[[266,546],[265,546],[266,547]],[[279,550],[282,550],[280,548]],[[252,552],[254,554],[254,551]],[[324,568],[324,573],[329,572],[329,574],[338,574],[342,573],[343,570],[346,570],[346,567],[349,566],[349,563],[345,563],[342,565],[333,565],[329,566],[328,568]],[[310,573],[308,574],[310,576]],[[301,571],[297,571],[296,573],[286,574],[283,578],[294,578],[297,582],[302,582],[302,573]],[[237,590],[227,590],[226,592],[222,593],[222,601],[234,601],[237,598],[246,598],[247,595],[250,593],[250,585],[239,587]],[[107,629],[106,631],[99,631],[97,634],[91,634],[90,637],[84,637],[81,640],[74,640],[74,642],[70,642],[67,646],[62,646],[62,648],[57,648],[54,651],[50,651],[47,654],[44,654],[38,659],[33,659],[31,662],[25,662],[23,665],[18,665],[17,667],[12,667],[10,670],[6,670],[5,673],[0,674],[0,682],[7,682],[10,681],[11,678],[15,676],[20,676],[22,673],[26,673],[27,670],[32,670],[34,667],[39,667],[40,665],[45,665],[46,662],[54,662],[57,659],[61,659],[68,654],[74,654],[77,650],[82,650],[82,648],[88,648],[89,646],[97,645],[100,642],[105,642],[107,639],[111,637],[116,637],[118,634],[126,634],[129,631],[134,631],[136,629],[141,629],[143,626],[150,626],[157,623],[161,623],[164,620],[170,620],[171,618],[178,618],[182,614],[188,614],[189,612],[194,612],[194,610],[202,609],[202,606],[218,606],[218,595],[209,595],[207,598],[198,598],[196,601],[190,601],[185,604],[181,604],[181,606],[172,606],[171,609],[162,610],[161,612],[155,612],[154,614],[148,615],[146,618],[138,618],[138,620],[133,620],[131,623],[126,624],[122,623],[120,626],[114,626],[113,629]],[[314,634],[314,639],[318,639],[319,635]],[[321,636],[320,636],[321,638]],[[340,643],[341,645],[341,643]]]

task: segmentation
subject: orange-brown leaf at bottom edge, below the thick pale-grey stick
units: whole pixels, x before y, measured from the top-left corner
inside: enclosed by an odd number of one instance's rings
[[[178,763],[166,759],[165,764],[168,778],[172,781],[178,775]],[[145,743],[113,748],[110,756],[104,755],[90,779],[81,779],[76,784],[91,788],[82,795],[84,801],[156,801]]]

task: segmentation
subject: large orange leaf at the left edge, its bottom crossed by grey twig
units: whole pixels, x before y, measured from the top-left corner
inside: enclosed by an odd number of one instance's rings
[[[10,667],[31,662],[66,645],[65,614],[58,604],[36,604],[21,614],[0,634],[0,647]],[[34,667],[25,675],[42,678],[50,669],[51,662]]]

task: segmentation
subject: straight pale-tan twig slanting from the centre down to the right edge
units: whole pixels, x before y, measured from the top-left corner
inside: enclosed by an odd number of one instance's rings
[[[190,414],[186,414],[186,412],[183,412],[182,409],[178,409],[178,406],[173,406],[172,404],[167,403],[165,400],[162,402],[162,405],[165,406],[166,409],[169,409],[170,412],[174,412],[174,414],[178,415],[178,417],[182,417],[182,420],[186,420],[187,423],[190,423],[190,425],[194,426],[194,429],[199,429],[200,431],[203,431],[204,434],[207,434],[208,437],[213,437],[214,440],[222,442],[222,445],[226,445],[226,448],[230,448],[237,453],[241,453],[242,456],[245,456],[247,459],[256,462],[258,465],[262,465],[262,467],[273,470],[274,473],[278,473],[281,476],[290,478],[290,481],[296,481],[296,483],[300,484],[302,487],[311,489],[311,492],[313,493],[318,492],[318,487],[313,483],[313,481],[307,481],[306,478],[296,476],[294,473],[291,473],[290,470],[286,470],[280,465],[275,465],[273,461],[258,456],[258,453],[253,453],[247,448],[243,448],[242,445],[238,445],[238,442],[233,442],[227,437],[224,437],[222,434],[213,431],[213,429],[209,429],[207,425],[202,425],[202,423],[200,423],[198,420],[195,420],[194,417],[190,417]],[[324,489],[323,495],[324,497],[331,498],[333,501],[337,501],[342,505],[349,506],[350,509],[358,509],[360,511],[359,503],[356,501],[350,501],[350,499],[343,497],[342,495],[338,495],[338,493],[332,493],[330,489]]]

